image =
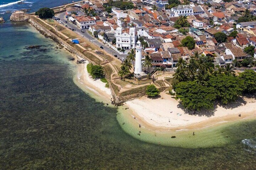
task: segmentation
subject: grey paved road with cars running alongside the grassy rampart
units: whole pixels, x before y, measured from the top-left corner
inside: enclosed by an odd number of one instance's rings
[[[88,29],[83,29],[84,30],[84,33],[81,32],[81,29],[78,28],[76,25],[72,24],[71,22],[67,22],[67,19],[65,17],[65,13],[61,13],[61,14],[58,14],[59,18],[61,19],[61,21],[64,23],[64,24],[67,24],[67,26],[69,26],[70,28],[74,28],[75,31],[74,32],[77,32],[80,36],[82,36],[84,39],[87,39],[89,40],[91,43],[93,43],[94,45],[97,45],[98,47],[100,46],[103,46],[103,50],[106,51],[107,53],[109,54],[112,54],[112,55],[117,55],[119,58],[126,58],[127,54],[119,54],[117,53],[116,51],[114,51],[112,48],[110,48],[109,46],[105,45],[104,43],[98,41],[95,37],[91,36],[87,31]]]

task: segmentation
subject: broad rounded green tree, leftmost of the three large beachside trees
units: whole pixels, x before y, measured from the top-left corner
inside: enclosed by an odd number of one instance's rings
[[[196,81],[180,82],[175,91],[176,100],[180,99],[189,110],[211,109],[216,99],[214,88],[199,85]]]

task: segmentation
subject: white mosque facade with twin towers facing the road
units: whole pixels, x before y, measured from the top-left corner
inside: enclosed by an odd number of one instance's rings
[[[122,28],[118,27],[116,30],[116,47],[122,49],[135,48],[135,38],[135,28],[130,28],[129,33],[122,33]]]

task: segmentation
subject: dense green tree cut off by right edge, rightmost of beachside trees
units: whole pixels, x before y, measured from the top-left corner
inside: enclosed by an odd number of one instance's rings
[[[244,91],[247,93],[256,92],[256,72],[253,70],[245,70],[238,76],[244,81]]]

